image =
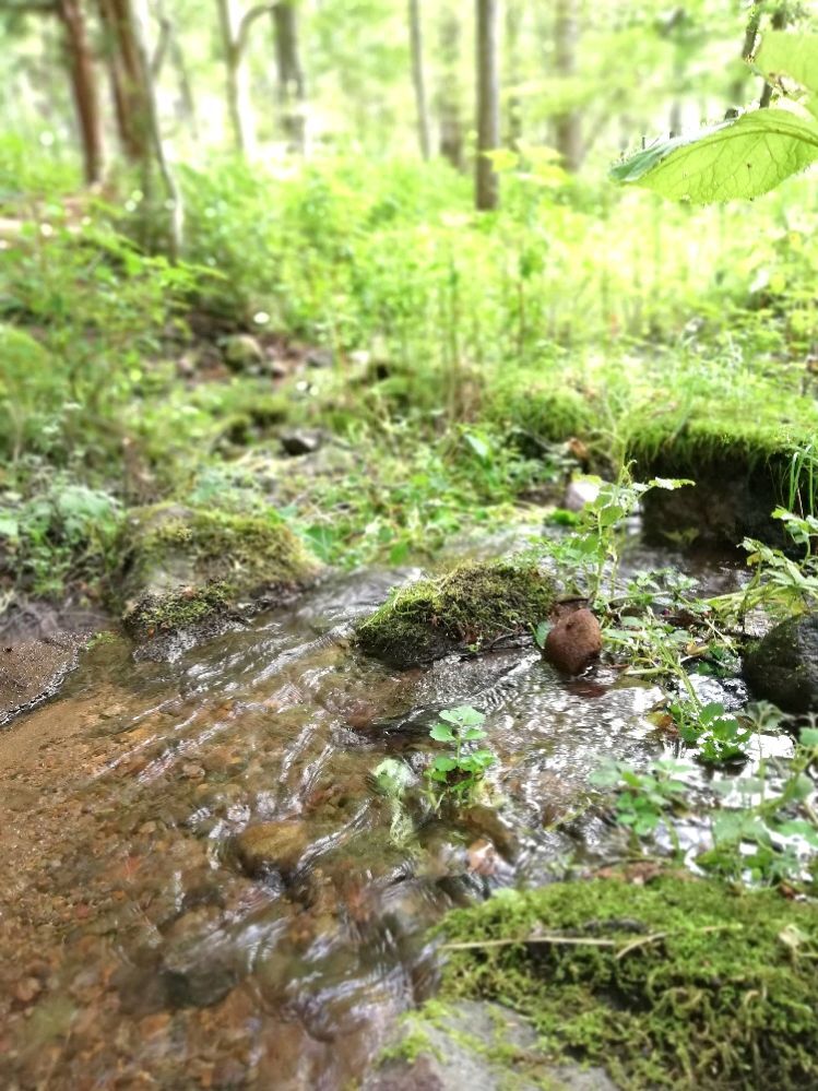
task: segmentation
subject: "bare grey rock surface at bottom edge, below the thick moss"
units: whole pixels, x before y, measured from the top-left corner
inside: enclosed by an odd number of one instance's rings
[[[600,1068],[552,1065],[536,1050],[536,1033],[497,1004],[464,1000],[432,1021],[411,1017],[363,1091],[616,1091]]]

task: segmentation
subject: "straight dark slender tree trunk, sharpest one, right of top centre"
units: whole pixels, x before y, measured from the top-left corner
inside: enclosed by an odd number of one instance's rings
[[[499,182],[488,152],[500,143],[498,0],[477,0],[477,163],[475,204],[496,209]]]

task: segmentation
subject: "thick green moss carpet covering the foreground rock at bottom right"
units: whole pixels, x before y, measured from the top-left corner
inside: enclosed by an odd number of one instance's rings
[[[506,892],[444,922],[443,999],[499,1000],[623,1088],[818,1084],[818,908],[665,876]],[[525,942],[537,932],[571,944]],[[582,942],[585,940],[585,942]],[[610,946],[606,946],[610,945]]]

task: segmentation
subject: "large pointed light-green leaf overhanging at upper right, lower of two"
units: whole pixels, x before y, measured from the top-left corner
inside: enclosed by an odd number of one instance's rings
[[[789,110],[759,109],[666,140],[612,170],[662,197],[692,204],[754,198],[818,158],[818,123]]]

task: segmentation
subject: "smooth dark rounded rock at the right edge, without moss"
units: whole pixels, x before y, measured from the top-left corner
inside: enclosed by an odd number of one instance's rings
[[[745,656],[744,676],[784,712],[818,712],[818,614],[776,625]]]

